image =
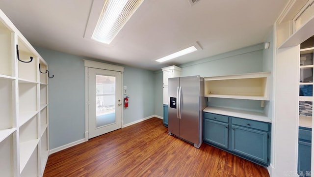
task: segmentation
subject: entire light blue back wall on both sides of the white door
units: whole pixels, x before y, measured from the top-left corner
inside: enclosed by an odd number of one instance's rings
[[[54,75],[54,78],[49,79],[50,149],[84,139],[85,67],[83,59],[88,58],[39,47],[36,47],[36,50],[49,64],[50,74]],[[124,67],[123,85],[128,88],[127,94],[130,95],[130,101],[129,108],[124,109],[123,112],[123,124],[128,124],[155,114],[153,99],[156,76],[154,71]]]

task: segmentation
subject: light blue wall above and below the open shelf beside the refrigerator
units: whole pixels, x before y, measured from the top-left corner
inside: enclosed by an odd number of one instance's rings
[[[179,65],[182,76],[201,77],[233,75],[263,71],[263,44],[257,44],[217,56]],[[210,98],[208,106],[263,112],[256,100]]]

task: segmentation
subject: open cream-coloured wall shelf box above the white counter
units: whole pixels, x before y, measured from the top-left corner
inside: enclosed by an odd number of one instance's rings
[[[204,78],[204,96],[269,100],[270,72]]]

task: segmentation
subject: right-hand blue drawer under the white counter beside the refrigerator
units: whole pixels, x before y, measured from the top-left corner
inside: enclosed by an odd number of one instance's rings
[[[244,127],[255,128],[263,131],[269,131],[269,123],[245,118],[232,118],[232,124]]]

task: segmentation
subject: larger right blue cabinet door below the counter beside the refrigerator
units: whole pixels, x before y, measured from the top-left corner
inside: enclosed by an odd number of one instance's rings
[[[268,163],[268,133],[252,128],[232,125],[232,145],[234,152],[251,159]]]

